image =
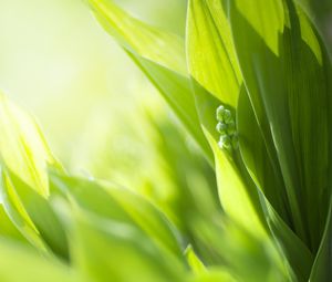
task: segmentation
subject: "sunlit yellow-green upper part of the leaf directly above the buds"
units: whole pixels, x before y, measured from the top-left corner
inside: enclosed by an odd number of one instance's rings
[[[224,104],[237,107],[241,74],[235,55],[225,0],[190,0],[187,54],[190,75]]]

